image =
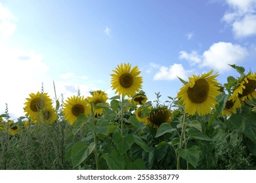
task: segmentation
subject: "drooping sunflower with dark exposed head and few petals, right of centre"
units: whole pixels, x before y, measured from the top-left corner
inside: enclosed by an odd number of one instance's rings
[[[148,124],[155,128],[158,128],[163,123],[171,123],[171,110],[169,110],[166,106],[153,108],[146,117],[146,120]]]

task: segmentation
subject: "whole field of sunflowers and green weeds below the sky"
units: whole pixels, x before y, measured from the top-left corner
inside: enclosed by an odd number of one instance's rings
[[[102,90],[66,101],[41,88],[24,100],[25,116],[0,116],[0,169],[256,169],[256,74],[217,81],[193,75],[175,97],[148,101],[139,68],[112,71]],[[55,88],[54,88],[55,90]]]

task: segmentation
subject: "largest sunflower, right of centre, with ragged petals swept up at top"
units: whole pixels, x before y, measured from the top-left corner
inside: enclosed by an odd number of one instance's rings
[[[188,114],[194,115],[197,112],[202,116],[211,113],[211,108],[215,108],[215,97],[220,93],[217,85],[220,84],[215,79],[217,73],[211,75],[212,73],[213,70],[202,76],[193,75],[188,78],[189,82],[182,86],[178,97]]]

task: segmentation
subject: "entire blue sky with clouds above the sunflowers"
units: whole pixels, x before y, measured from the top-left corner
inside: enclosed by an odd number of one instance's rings
[[[0,0],[0,114],[23,116],[29,93],[104,90],[120,63],[138,66],[149,99],[182,86],[177,76],[214,69],[222,84],[255,71],[256,0]]]

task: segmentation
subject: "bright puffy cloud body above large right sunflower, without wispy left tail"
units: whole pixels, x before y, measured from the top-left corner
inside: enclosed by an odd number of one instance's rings
[[[238,64],[248,55],[246,48],[230,42],[217,42],[209,50],[203,52],[202,66],[208,66],[219,71],[230,69],[228,64]]]

